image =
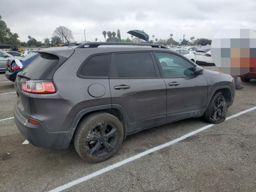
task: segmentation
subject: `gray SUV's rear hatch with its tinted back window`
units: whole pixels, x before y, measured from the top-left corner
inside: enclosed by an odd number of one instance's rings
[[[39,52],[35,60],[33,60],[26,68],[19,72],[14,84],[17,92],[17,107],[20,113],[29,118],[31,115],[30,108],[30,92],[22,89],[25,82],[52,81],[54,72],[62,65],[72,54],[74,50],[66,50],[61,52]]]

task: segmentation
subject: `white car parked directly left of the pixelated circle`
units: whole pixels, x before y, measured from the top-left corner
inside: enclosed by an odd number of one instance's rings
[[[195,52],[196,64],[198,65],[214,65],[211,54],[211,46],[202,46]]]

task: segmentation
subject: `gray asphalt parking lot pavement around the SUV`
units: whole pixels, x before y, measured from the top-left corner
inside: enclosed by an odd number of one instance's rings
[[[8,84],[0,83],[1,93],[14,91]],[[240,84],[245,88],[236,91],[228,116],[256,106],[256,80]],[[15,100],[16,94],[0,95],[0,119],[13,116]],[[255,191],[255,115],[256,110],[214,125],[65,191]],[[14,120],[0,121],[0,191],[49,191],[206,125],[203,118],[190,118],[144,130],[127,136],[110,160],[89,164],[73,145],[66,150],[22,145]]]

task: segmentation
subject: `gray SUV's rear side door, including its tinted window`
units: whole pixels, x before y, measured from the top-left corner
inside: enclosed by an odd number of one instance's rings
[[[112,105],[126,110],[130,123],[144,122],[145,128],[166,119],[166,85],[152,52],[112,53],[110,91]]]

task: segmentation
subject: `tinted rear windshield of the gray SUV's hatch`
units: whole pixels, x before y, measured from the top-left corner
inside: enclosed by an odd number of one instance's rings
[[[34,55],[34,54],[33,54]],[[55,70],[59,66],[59,58],[49,53],[40,53],[21,73],[30,79],[52,79]]]

